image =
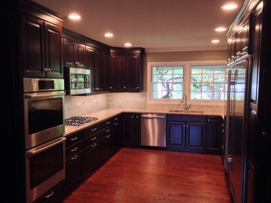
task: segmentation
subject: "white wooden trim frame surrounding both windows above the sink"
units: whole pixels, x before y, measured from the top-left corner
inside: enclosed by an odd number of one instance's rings
[[[152,80],[152,66],[183,66],[184,73],[183,73],[183,96],[184,94],[187,95],[187,104],[194,104],[194,105],[218,105],[224,106],[224,100],[198,100],[198,99],[190,99],[190,80],[191,80],[191,66],[198,66],[198,65],[225,65],[226,67],[227,61],[226,60],[202,60],[202,61],[161,61],[161,62],[147,62],[147,104],[175,104],[179,105],[181,99],[152,99],[152,89],[151,80]],[[189,69],[189,70],[188,70]]]

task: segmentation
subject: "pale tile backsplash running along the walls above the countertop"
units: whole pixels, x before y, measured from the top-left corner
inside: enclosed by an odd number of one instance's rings
[[[65,118],[84,116],[109,108],[183,110],[183,105],[147,104],[146,91],[139,93],[105,93],[91,96],[65,96]],[[192,104],[190,110],[220,115],[224,114],[224,106],[218,105]]]

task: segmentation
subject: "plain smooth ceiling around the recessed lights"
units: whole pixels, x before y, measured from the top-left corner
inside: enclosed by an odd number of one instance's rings
[[[64,27],[110,46],[144,48],[195,48],[227,45],[225,32],[244,0],[232,0],[234,11],[223,11],[227,0],[35,0],[35,2],[67,16]],[[81,20],[72,21],[70,13]],[[105,32],[114,37],[105,38]],[[167,37],[161,37],[161,36]],[[219,39],[214,45],[211,40]]]

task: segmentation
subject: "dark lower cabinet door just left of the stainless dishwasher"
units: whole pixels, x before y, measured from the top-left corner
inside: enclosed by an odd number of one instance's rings
[[[131,146],[135,143],[134,114],[126,113],[123,116],[123,142]]]

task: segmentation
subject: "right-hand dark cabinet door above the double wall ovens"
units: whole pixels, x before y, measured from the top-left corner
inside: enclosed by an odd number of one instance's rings
[[[47,77],[63,78],[62,28],[45,22],[45,50]]]

